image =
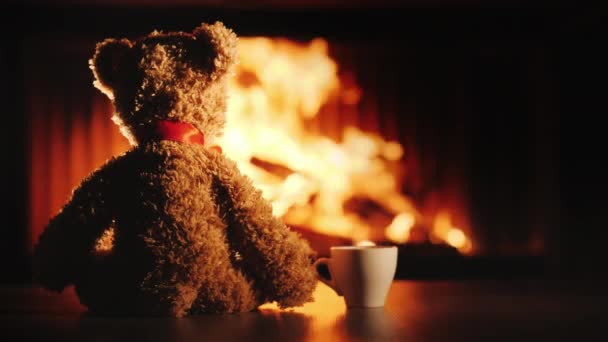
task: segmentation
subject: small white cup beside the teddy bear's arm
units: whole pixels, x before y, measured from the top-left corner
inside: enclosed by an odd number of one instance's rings
[[[397,270],[396,246],[335,246],[315,262],[317,278],[344,296],[347,307],[382,307]],[[331,279],[319,274],[326,265]]]

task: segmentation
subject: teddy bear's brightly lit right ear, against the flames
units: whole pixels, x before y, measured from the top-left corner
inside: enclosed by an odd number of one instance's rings
[[[213,25],[202,23],[192,34],[201,43],[210,44],[215,52],[212,77],[226,74],[237,59],[236,34],[219,21]]]

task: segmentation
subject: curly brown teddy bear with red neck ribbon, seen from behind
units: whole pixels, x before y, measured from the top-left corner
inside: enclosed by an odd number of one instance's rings
[[[105,314],[181,317],[312,300],[315,252],[214,144],[236,44],[221,22],[97,44],[94,85],[133,146],[87,176],[45,227],[37,282],[54,291],[73,284],[89,311]]]

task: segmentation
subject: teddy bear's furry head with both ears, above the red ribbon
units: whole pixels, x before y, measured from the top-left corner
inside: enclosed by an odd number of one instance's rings
[[[193,125],[213,140],[225,122],[226,76],[236,43],[222,23],[203,23],[192,33],[106,39],[89,64],[94,85],[114,102],[113,120],[132,143],[141,142],[158,121]]]

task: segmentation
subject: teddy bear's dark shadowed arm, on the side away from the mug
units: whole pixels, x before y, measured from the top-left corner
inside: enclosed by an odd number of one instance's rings
[[[108,168],[106,165],[83,180],[40,235],[34,248],[34,279],[49,290],[61,291],[74,281],[94,243],[111,223]]]

